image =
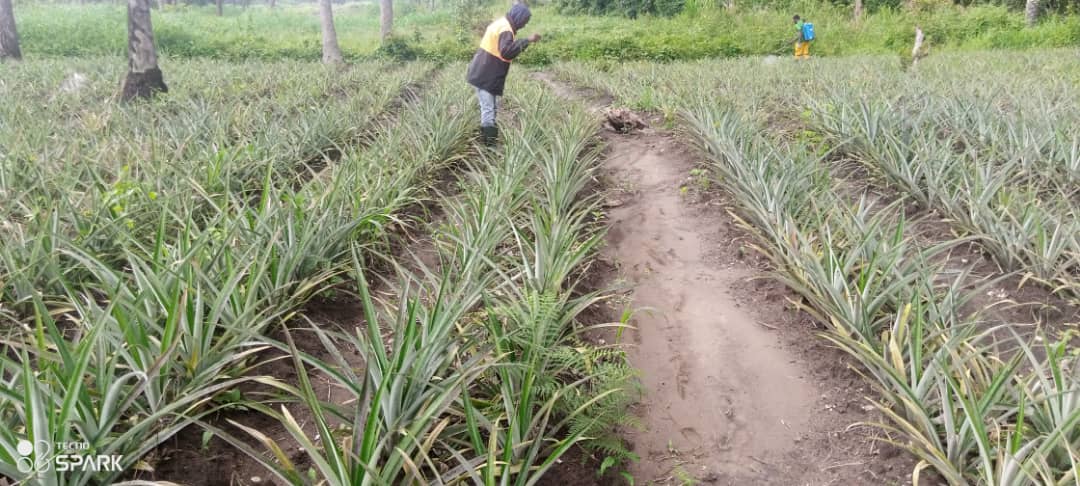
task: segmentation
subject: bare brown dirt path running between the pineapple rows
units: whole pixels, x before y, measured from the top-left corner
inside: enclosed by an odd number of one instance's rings
[[[536,77],[585,102],[585,93]],[[642,309],[629,351],[646,389],[643,428],[626,433],[640,456],[631,468],[636,484],[894,483],[873,471],[891,475],[893,467],[870,464],[878,450],[867,437],[846,430],[867,418],[855,405],[864,389],[808,328],[792,326],[805,318],[785,311],[782,286],[750,282],[762,272],[731,244],[745,237],[731,217],[683,190],[693,153],[650,129],[604,137],[615,207],[602,257],[619,267]],[[822,357],[828,363],[814,363]]]

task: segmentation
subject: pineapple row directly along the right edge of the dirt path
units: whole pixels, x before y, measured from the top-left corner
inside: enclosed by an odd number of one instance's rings
[[[874,384],[874,426],[953,485],[1080,481],[1080,368],[1067,340],[995,323],[967,271],[935,258],[966,239],[917,242],[903,201],[838,195],[827,166],[724,106],[688,123],[778,276]]]

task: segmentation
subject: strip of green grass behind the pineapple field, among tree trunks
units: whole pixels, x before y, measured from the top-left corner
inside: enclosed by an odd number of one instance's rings
[[[944,5],[918,12],[881,10],[853,23],[846,8],[806,1],[792,6],[818,26],[813,52],[824,56],[902,54],[910,51],[915,25],[939,50],[1065,48],[1080,42],[1080,17],[1049,16],[1024,28],[1023,16],[1000,6]],[[704,9],[676,17],[563,15],[536,9],[528,32],[545,41],[521,58],[525,64],[554,60],[687,60],[750,55],[787,55],[792,11],[752,9],[731,14]],[[468,60],[478,32],[449,11],[397,5],[394,30],[422,58]],[[28,56],[122,55],[125,11],[117,5],[27,4],[17,9],[23,50]],[[378,10],[372,4],[335,6],[339,43],[347,57],[376,55]],[[158,45],[165,56],[224,59],[320,58],[319,19],[313,5],[269,9],[230,6],[217,17],[213,6],[166,6],[153,13]]]

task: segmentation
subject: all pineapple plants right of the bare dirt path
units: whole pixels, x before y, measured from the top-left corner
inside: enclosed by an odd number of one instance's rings
[[[1076,85],[1066,75],[1077,66],[1057,54],[1004,60],[1000,53],[966,54],[963,63],[942,56],[906,73],[887,58],[555,69],[564,79],[612,94],[617,104],[681,121],[707,154],[720,187],[734,197],[735,214],[777,276],[799,295],[800,308],[826,325],[824,337],[854,357],[856,370],[875,384],[869,400],[883,415],[876,426],[920,459],[915,482],[930,470],[956,485],[1077,484],[1080,366],[1069,335],[1057,339],[981,312],[976,298],[1003,274],[980,280],[971,269],[957,272],[955,262],[947,264],[958,245],[1001,237],[958,227],[964,234],[927,243],[905,207],[916,199],[912,191],[883,198],[875,185],[852,185],[859,173],[834,163],[837,148],[880,151],[881,144],[856,145],[851,132],[840,136],[823,127],[839,106],[854,107],[848,108],[847,122],[858,125],[864,122],[860,98],[890,99],[909,110],[897,113],[879,105],[874,114],[890,121],[914,116],[926,121],[918,125],[922,131],[905,133],[961,141],[942,143],[943,151],[970,147],[987,163],[953,159],[951,167],[933,166],[967,172],[961,177],[968,180],[998,178],[1005,191],[1016,191],[1011,194],[1029,189],[1030,198],[1013,197],[1011,203],[1024,203],[1016,213],[996,208],[976,216],[1008,221],[1015,231],[1007,237],[1026,242],[1013,246],[1023,248],[1015,252],[1024,258],[1007,270],[1038,274],[1064,288],[1075,276],[1076,253],[1069,247],[1078,233],[1075,219],[1044,221],[1041,228],[1030,224],[1030,215],[1048,207],[1062,210],[1050,212],[1058,216],[1076,211],[1068,183],[1076,164]],[[927,112],[932,103],[939,109]],[[864,125],[878,130],[878,140],[902,138],[896,125]],[[1053,130],[1041,132],[1045,126]],[[883,176],[880,161],[863,162]],[[913,180],[931,180],[934,174],[924,172]],[[966,207],[986,204],[972,200],[974,192],[954,195]]]

